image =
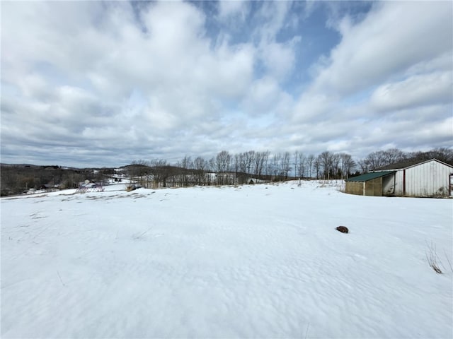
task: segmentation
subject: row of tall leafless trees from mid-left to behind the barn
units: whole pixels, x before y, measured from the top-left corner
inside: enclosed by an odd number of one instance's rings
[[[127,174],[142,186],[168,187],[193,185],[231,185],[253,182],[277,182],[287,179],[348,179],[394,164],[437,158],[453,165],[453,150],[435,148],[428,152],[406,153],[397,148],[369,153],[355,161],[348,153],[324,151],[319,155],[270,153],[249,150],[229,153],[222,150],[209,160],[188,155],[170,165],[166,160],[136,160]]]

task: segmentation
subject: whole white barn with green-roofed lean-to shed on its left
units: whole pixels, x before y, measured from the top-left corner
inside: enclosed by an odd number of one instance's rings
[[[453,166],[437,159],[398,162],[346,180],[363,196],[453,196]]]

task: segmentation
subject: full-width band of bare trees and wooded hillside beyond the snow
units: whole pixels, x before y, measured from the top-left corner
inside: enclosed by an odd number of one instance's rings
[[[324,151],[318,155],[249,150],[230,153],[222,150],[210,159],[190,157],[170,165],[166,160],[136,160],[120,168],[75,169],[67,167],[1,164],[1,196],[20,194],[43,185],[59,189],[76,188],[90,180],[104,182],[107,178],[130,177],[146,187],[208,186],[277,182],[287,179],[347,179],[395,162],[437,158],[453,165],[451,148],[435,148],[428,152],[406,153],[397,148],[369,153],[353,160],[347,153]]]

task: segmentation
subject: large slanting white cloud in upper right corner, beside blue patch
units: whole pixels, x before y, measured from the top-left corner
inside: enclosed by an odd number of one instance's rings
[[[379,3],[357,25],[343,19],[342,40],[317,75],[314,88],[348,95],[398,76],[452,49],[452,4]]]

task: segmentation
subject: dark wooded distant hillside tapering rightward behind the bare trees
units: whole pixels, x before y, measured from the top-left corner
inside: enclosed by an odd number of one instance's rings
[[[106,184],[108,179],[126,177],[147,188],[251,184],[294,179],[283,175],[245,172],[213,172],[172,165],[132,164],[119,168],[74,168],[59,165],[0,164],[1,196],[23,194],[30,189],[72,189],[85,180]]]

